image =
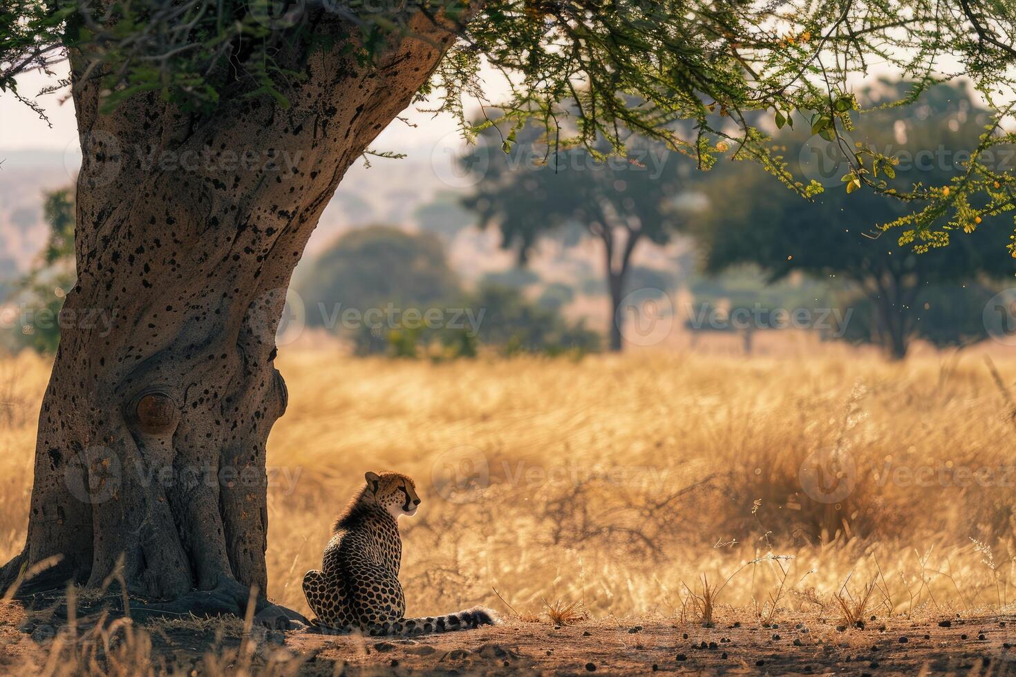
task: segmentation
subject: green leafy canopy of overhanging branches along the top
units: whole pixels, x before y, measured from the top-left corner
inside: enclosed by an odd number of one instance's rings
[[[846,190],[919,201],[886,224],[918,249],[1013,206],[1016,177],[980,161],[1013,140],[1005,125],[1016,98],[1016,6],[1006,0],[12,0],[0,11],[0,88],[37,106],[15,77],[53,72],[75,50],[89,64],[81,77],[104,79],[107,106],[144,91],[196,114],[226,91],[285,106],[278,82],[305,74],[292,60],[280,65],[281,51],[340,44],[369,64],[420,14],[452,22],[459,36],[420,93],[438,94],[472,135],[492,122],[468,122],[466,97],[486,100],[482,74],[503,74],[506,148],[528,120],[543,125],[548,152],[582,144],[601,153],[606,142],[624,153],[637,134],[704,168],[723,152],[756,159],[809,197],[821,186],[795,177],[765,144],[772,127],[807,126],[839,142]],[[340,21],[322,22],[326,15]],[[913,81],[888,106],[959,76],[992,106],[994,120],[948,186],[899,185],[892,156],[843,139],[866,112],[852,83],[875,64]],[[1016,243],[1010,249],[1016,256]]]

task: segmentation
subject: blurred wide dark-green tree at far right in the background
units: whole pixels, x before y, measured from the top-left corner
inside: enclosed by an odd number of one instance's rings
[[[901,95],[907,86],[882,83],[883,95]],[[976,143],[988,121],[988,112],[974,107],[963,86],[940,85],[919,105],[865,116],[854,135],[902,157],[889,168],[890,179],[942,186],[963,171],[963,149]],[[806,171],[839,183],[845,165],[824,166],[822,160],[837,155],[826,153],[825,142],[803,136],[781,133],[773,142],[777,151],[805,164],[820,160]],[[978,221],[975,232],[953,236],[950,247],[914,254],[874,229],[912,210],[905,202],[843,190],[803,201],[773,190],[768,178],[746,162],[724,163],[713,175],[703,182],[708,208],[687,227],[703,250],[706,270],[748,263],[771,281],[793,271],[838,281],[846,292],[842,302],[854,311],[844,336],[878,343],[894,358],[906,354],[915,336],[940,346],[982,338],[979,309],[998,280],[1016,272],[1016,261],[1005,251],[1011,225],[1001,218]]]

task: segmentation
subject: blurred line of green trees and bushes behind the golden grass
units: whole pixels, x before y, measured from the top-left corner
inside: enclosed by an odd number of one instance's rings
[[[895,100],[908,86],[882,83],[878,91]],[[868,95],[877,98],[878,91]],[[962,171],[962,149],[975,144],[988,121],[988,112],[963,87],[940,85],[918,104],[867,114],[852,134],[867,144],[859,147],[901,158],[880,166],[895,184],[945,186]],[[544,162],[546,140],[538,127],[515,129],[510,141],[503,133],[497,125],[489,127],[484,143],[463,160],[485,168],[474,189],[441,193],[416,211],[421,232],[391,225],[353,230],[298,271],[294,285],[306,299],[307,323],[333,329],[359,354],[455,357],[474,355],[483,346],[502,353],[586,352],[601,347],[599,334],[565,314],[579,293],[606,294],[607,345],[618,350],[626,294],[663,293],[681,280],[694,294],[696,317],[677,320],[693,331],[702,330],[697,318],[720,308],[752,311],[747,317],[757,320],[768,317],[756,312],[759,307],[832,304],[842,322],[827,337],[874,343],[901,358],[914,338],[937,346],[985,338],[981,310],[1016,273],[1016,260],[1006,251],[1009,228],[998,217],[957,232],[948,248],[915,254],[873,229],[906,213],[912,203],[872,191],[826,191],[805,201],[773,185],[754,163],[723,162],[700,175],[689,171],[687,158],[651,146],[627,161],[605,161],[595,147],[580,147],[548,155],[553,159]],[[800,161],[806,174],[839,183],[839,155],[820,137],[784,127],[771,144],[775,157]],[[996,149],[1000,164],[1009,158],[1002,150]],[[44,213],[50,228],[46,246],[7,298],[8,310],[19,312],[8,342],[53,352],[57,313],[74,283],[73,190],[47,194]],[[497,227],[502,247],[515,253],[518,265],[489,272],[467,288],[449,267],[445,248],[470,224]],[[673,270],[634,263],[640,248],[677,236],[697,244],[702,274],[689,277],[677,263]],[[599,247],[601,277],[580,262],[575,280],[543,284],[527,267],[542,243],[554,242],[564,251],[583,240]],[[687,257],[682,261],[689,263]],[[804,295],[773,286],[795,273],[810,280],[800,289]],[[362,315],[370,309],[429,310],[431,317],[407,321],[385,314],[378,322],[343,322],[344,311]],[[455,310],[472,316],[453,322]]]

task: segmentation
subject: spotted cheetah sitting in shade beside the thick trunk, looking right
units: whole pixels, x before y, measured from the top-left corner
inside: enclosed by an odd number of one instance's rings
[[[414,481],[398,473],[369,472],[367,484],[335,522],[323,570],[304,576],[304,595],[318,623],[343,631],[411,635],[493,625],[497,614],[473,607],[446,616],[404,618],[398,583],[402,541],[396,520],[417,513]]]

